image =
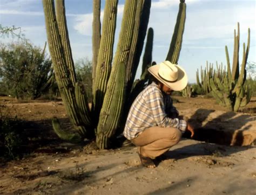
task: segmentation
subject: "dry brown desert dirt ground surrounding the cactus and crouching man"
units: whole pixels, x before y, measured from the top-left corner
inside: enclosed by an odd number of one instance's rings
[[[185,136],[155,169],[140,165],[133,146],[97,150],[60,141],[51,118],[70,126],[61,101],[0,98],[2,113],[25,121],[29,140],[22,159],[0,162],[0,194],[256,194],[256,98],[244,113],[213,99],[175,98],[197,140]]]

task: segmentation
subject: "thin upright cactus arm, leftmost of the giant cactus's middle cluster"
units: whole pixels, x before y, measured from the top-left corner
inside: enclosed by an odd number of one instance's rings
[[[92,32],[92,83],[94,83],[100,44],[100,0],[93,1]]]

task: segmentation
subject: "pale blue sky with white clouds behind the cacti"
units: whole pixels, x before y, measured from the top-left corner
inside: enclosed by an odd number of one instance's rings
[[[102,0],[102,11],[104,9]],[[196,70],[206,66],[206,60],[226,65],[225,45],[230,59],[233,54],[233,34],[240,23],[240,54],[251,29],[248,61],[256,61],[256,1],[255,0],[186,0],[186,24],[178,64],[183,66],[189,82],[196,82]],[[92,58],[92,0],[66,0],[66,17],[74,60]],[[124,8],[119,0],[116,41]],[[176,23],[179,0],[152,0],[149,27],[154,29],[153,60],[165,60]],[[19,26],[26,38],[43,47],[46,41],[41,0],[0,0],[0,24]],[[1,41],[10,41],[1,38]],[[240,57],[241,61],[242,57]],[[138,75],[140,74],[138,68]]]

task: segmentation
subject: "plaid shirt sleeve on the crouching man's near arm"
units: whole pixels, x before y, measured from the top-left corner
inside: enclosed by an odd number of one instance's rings
[[[181,131],[185,131],[187,123],[184,120],[179,120],[178,118],[171,119],[167,117],[165,113],[165,106],[163,101],[163,95],[159,90],[153,90],[147,96],[147,105],[152,112],[154,121],[156,121],[159,127],[174,127]]]

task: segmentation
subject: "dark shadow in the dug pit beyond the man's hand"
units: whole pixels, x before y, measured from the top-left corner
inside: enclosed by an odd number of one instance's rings
[[[244,131],[252,127],[251,124],[246,125],[246,123],[255,120],[255,116],[246,114],[235,116],[236,114],[234,112],[226,112],[208,121],[203,126],[203,122],[212,112],[214,112],[214,110],[198,109],[196,113],[192,115],[191,119],[188,120],[194,127],[193,140],[238,146],[241,146],[245,142],[255,142],[254,137],[250,137],[250,135],[245,137],[243,135]],[[190,136],[190,132],[184,134],[186,138],[190,138]],[[245,140],[245,138],[247,140]]]

